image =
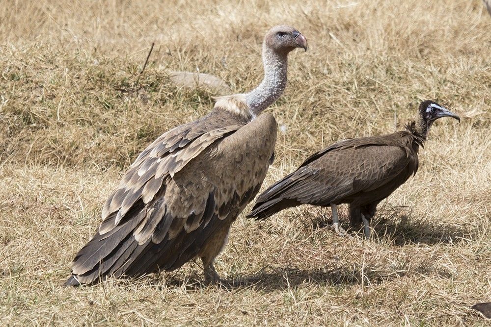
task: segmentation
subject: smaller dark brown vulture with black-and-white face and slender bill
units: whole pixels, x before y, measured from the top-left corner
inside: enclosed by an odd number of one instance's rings
[[[370,237],[369,221],[377,204],[418,170],[418,150],[428,130],[441,117],[459,116],[434,101],[420,103],[413,121],[402,130],[382,136],[336,142],[312,154],[300,167],[271,185],[247,215],[257,220],[300,204],[330,206],[336,233],[340,228],[336,206],[349,203],[351,227]]]

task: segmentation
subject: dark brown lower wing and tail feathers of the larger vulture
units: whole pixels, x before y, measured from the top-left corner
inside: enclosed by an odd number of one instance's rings
[[[214,195],[211,193],[200,217],[208,223],[200,224],[189,233],[182,229],[170,240],[166,233],[169,229],[167,223],[174,221],[174,218],[170,214],[164,216],[155,227],[158,231],[154,235],[157,243],[149,237],[145,243],[138,244],[134,232],[145,215],[135,212],[136,217],[133,220],[124,221],[122,226],[117,226],[106,234],[101,235],[98,232],[82,248],[74,259],[73,274],[65,286],[95,284],[107,277],[140,277],[159,270],[170,271],[181,267],[198,254],[203,244],[223,224],[214,211],[215,206]],[[226,220],[237,214],[230,213]],[[165,232],[164,236],[161,235],[162,231]]]

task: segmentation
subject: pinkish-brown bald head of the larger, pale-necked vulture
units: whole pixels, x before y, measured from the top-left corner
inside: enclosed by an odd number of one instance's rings
[[[307,39],[298,30],[288,25],[277,25],[266,33],[264,43],[267,48],[281,54],[295,48],[302,48],[307,51]]]

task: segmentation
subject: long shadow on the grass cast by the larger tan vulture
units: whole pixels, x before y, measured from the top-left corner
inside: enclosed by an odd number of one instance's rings
[[[333,292],[343,292],[346,286],[379,285],[390,280],[407,276],[430,276],[436,274],[442,278],[452,278],[453,274],[438,267],[434,260],[423,260],[415,263],[401,262],[397,267],[384,269],[370,264],[347,263],[341,267],[317,267],[300,269],[296,267],[276,268],[266,266],[261,271],[244,275],[237,274],[223,279],[221,284],[207,285],[203,283],[203,274],[195,269],[191,274],[178,270],[173,273],[160,273],[139,278],[139,282],[161,290],[167,288],[186,289],[187,291],[202,292],[204,289],[222,289],[233,291],[251,288],[262,292],[283,291],[308,285],[333,287]],[[125,281],[129,288],[134,287],[134,280]]]

